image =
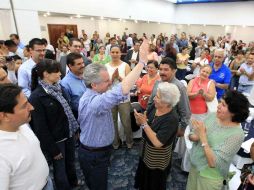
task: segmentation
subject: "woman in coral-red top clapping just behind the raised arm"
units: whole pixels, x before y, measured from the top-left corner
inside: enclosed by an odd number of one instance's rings
[[[160,80],[158,74],[159,64],[157,61],[151,60],[147,62],[147,74],[137,83],[138,102],[142,109],[146,109],[147,102],[152,93],[153,86],[157,80]]]

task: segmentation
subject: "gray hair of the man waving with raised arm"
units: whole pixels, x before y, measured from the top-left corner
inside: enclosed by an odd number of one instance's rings
[[[92,83],[100,83],[102,81],[101,71],[107,71],[107,68],[102,64],[92,63],[86,66],[83,77],[87,88],[91,88]]]

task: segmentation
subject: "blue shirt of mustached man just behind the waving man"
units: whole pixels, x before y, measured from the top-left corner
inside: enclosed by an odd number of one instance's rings
[[[71,109],[78,111],[79,100],[86,91],[84,80],[74,75],[71,71],[62,79],[61,86],[71,104]]]

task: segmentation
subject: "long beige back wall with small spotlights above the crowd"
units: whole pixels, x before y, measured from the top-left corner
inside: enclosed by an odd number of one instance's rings
[[[177,25],[177,24],[158,24],[158,23],[134,23],[134,22],[120,22],[120,21],[108,21],[108,20],[94,20],[91,21],[89,18],[70,19],[67,17],[43,17],[39,16],[40,25],[46,28],[42,31],[42,37],[48,39],[47,24],[76,24],[78,26],[78,33],[81,34],[81,30],[85,30],[86,33],[91,36],[96,30],[100,36],[104,38],[105,34],[109,32],[111,35],[117,34],[122,35],[123,32],[137,33],[141,36],[146,33],[147,36],[151,34],[158,35],[159,33],[166,33],[167,36],[177,33],[180,35],[182,31],[187,34],[198,35],[201,32],[205,32],[208,36],[223,36],[226,33],[231,33],[232,38],[236,40],[243,40],[245,42],[254,40],[254,27],[242,26],[219,26],[219,25]],[[128,30],[125,30],[125,29]]]

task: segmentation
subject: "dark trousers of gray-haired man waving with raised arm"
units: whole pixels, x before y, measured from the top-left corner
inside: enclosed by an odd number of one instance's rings
[[[89,151],[79,147],[80,167],[90,190],[106,190],[111,148],[103,151]]]

